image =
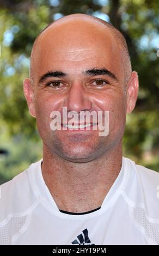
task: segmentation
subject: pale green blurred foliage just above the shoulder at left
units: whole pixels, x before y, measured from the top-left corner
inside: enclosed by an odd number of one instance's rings
[[[9,154],[0,156],[0,184],[10,180],[28,168],[31,163],[42,158],[41,141],[35,142],[23,135],[10,137],[6,131],[3,131],[1,138],[1,147],[7,149]]]

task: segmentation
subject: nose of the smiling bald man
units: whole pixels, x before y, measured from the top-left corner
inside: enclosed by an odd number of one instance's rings
[[[89,111],[92,108],[92,102],[88,92],[85,92],[82,82],[74,81],[65,101],[68,111]]]

